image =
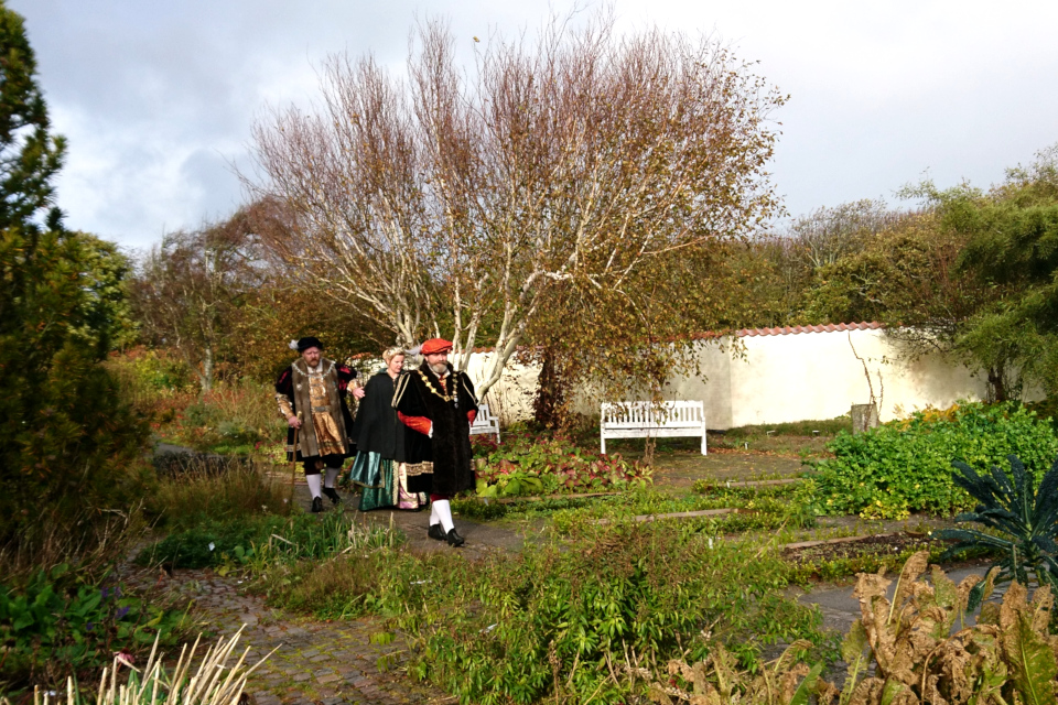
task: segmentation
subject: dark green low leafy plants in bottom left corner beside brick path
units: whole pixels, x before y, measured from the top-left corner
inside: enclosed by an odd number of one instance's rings
[[[186,612],[149,604],[119,584],[85,583],[61,564],[24,585],[0,585],[0,677],[12,687],[58,683],[106,665],[117,650],[149,649],[155,637],[172,646],[185,620]]]

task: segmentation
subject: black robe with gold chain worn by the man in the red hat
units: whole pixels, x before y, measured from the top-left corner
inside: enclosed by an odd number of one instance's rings
[[[474,489],[471,423],[477,415],[477,397],[471,378],[449,366],[441,380],[423,362],[397,379],[393,408],[408,426],[408,491],[455,495]]]

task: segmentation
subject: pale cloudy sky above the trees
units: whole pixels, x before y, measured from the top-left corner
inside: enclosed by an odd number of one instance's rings
[[[253,120],[309,105],[328,54],[399,70],[417,17],[532,31],[570,0],[8,0],[26,18],[71,227],[130,248],[229,215]],[[580,3],[585,7],[585,3]],[[587,4],[589,11],[592,6]],[[1058,142],[1058,2],[617,0],[618,28],[709,33],[790,95],[773,172],[788,210],[924,175],[980,186]]]

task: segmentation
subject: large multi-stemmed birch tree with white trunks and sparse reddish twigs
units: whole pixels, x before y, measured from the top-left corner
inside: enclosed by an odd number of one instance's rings
[[[407,82],[333,57],[319,113],[256,127],[252,187],[296,218],[268,245],[404,344],[443,330],[460,368],[492,345],[484,394],[551,288],[627,295],[673,252],[751,231],[776,207],[784,97],[715,41],[613,29],[494,37],[471,77],[440,22]]]

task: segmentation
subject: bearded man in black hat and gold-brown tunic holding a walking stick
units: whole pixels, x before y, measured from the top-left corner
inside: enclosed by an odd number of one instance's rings
[[[312,495],[312,511],[323,511],[321,494],[335,505],[339,497],[334,480],[345,458],[355,453],[353,416],[345,402],[349,382],[356,370],[323,357],[323,344],[309,336],[291,340],[290,347],[301,354],[276,381],[276,401],[287,420],[287,460],[295,457],[305,468],[305,480]],[[353,395],[364,397],[356,388]],[[298,447],[294,447],[294,429]],[[323,487],[320,471],[325,470]]]

